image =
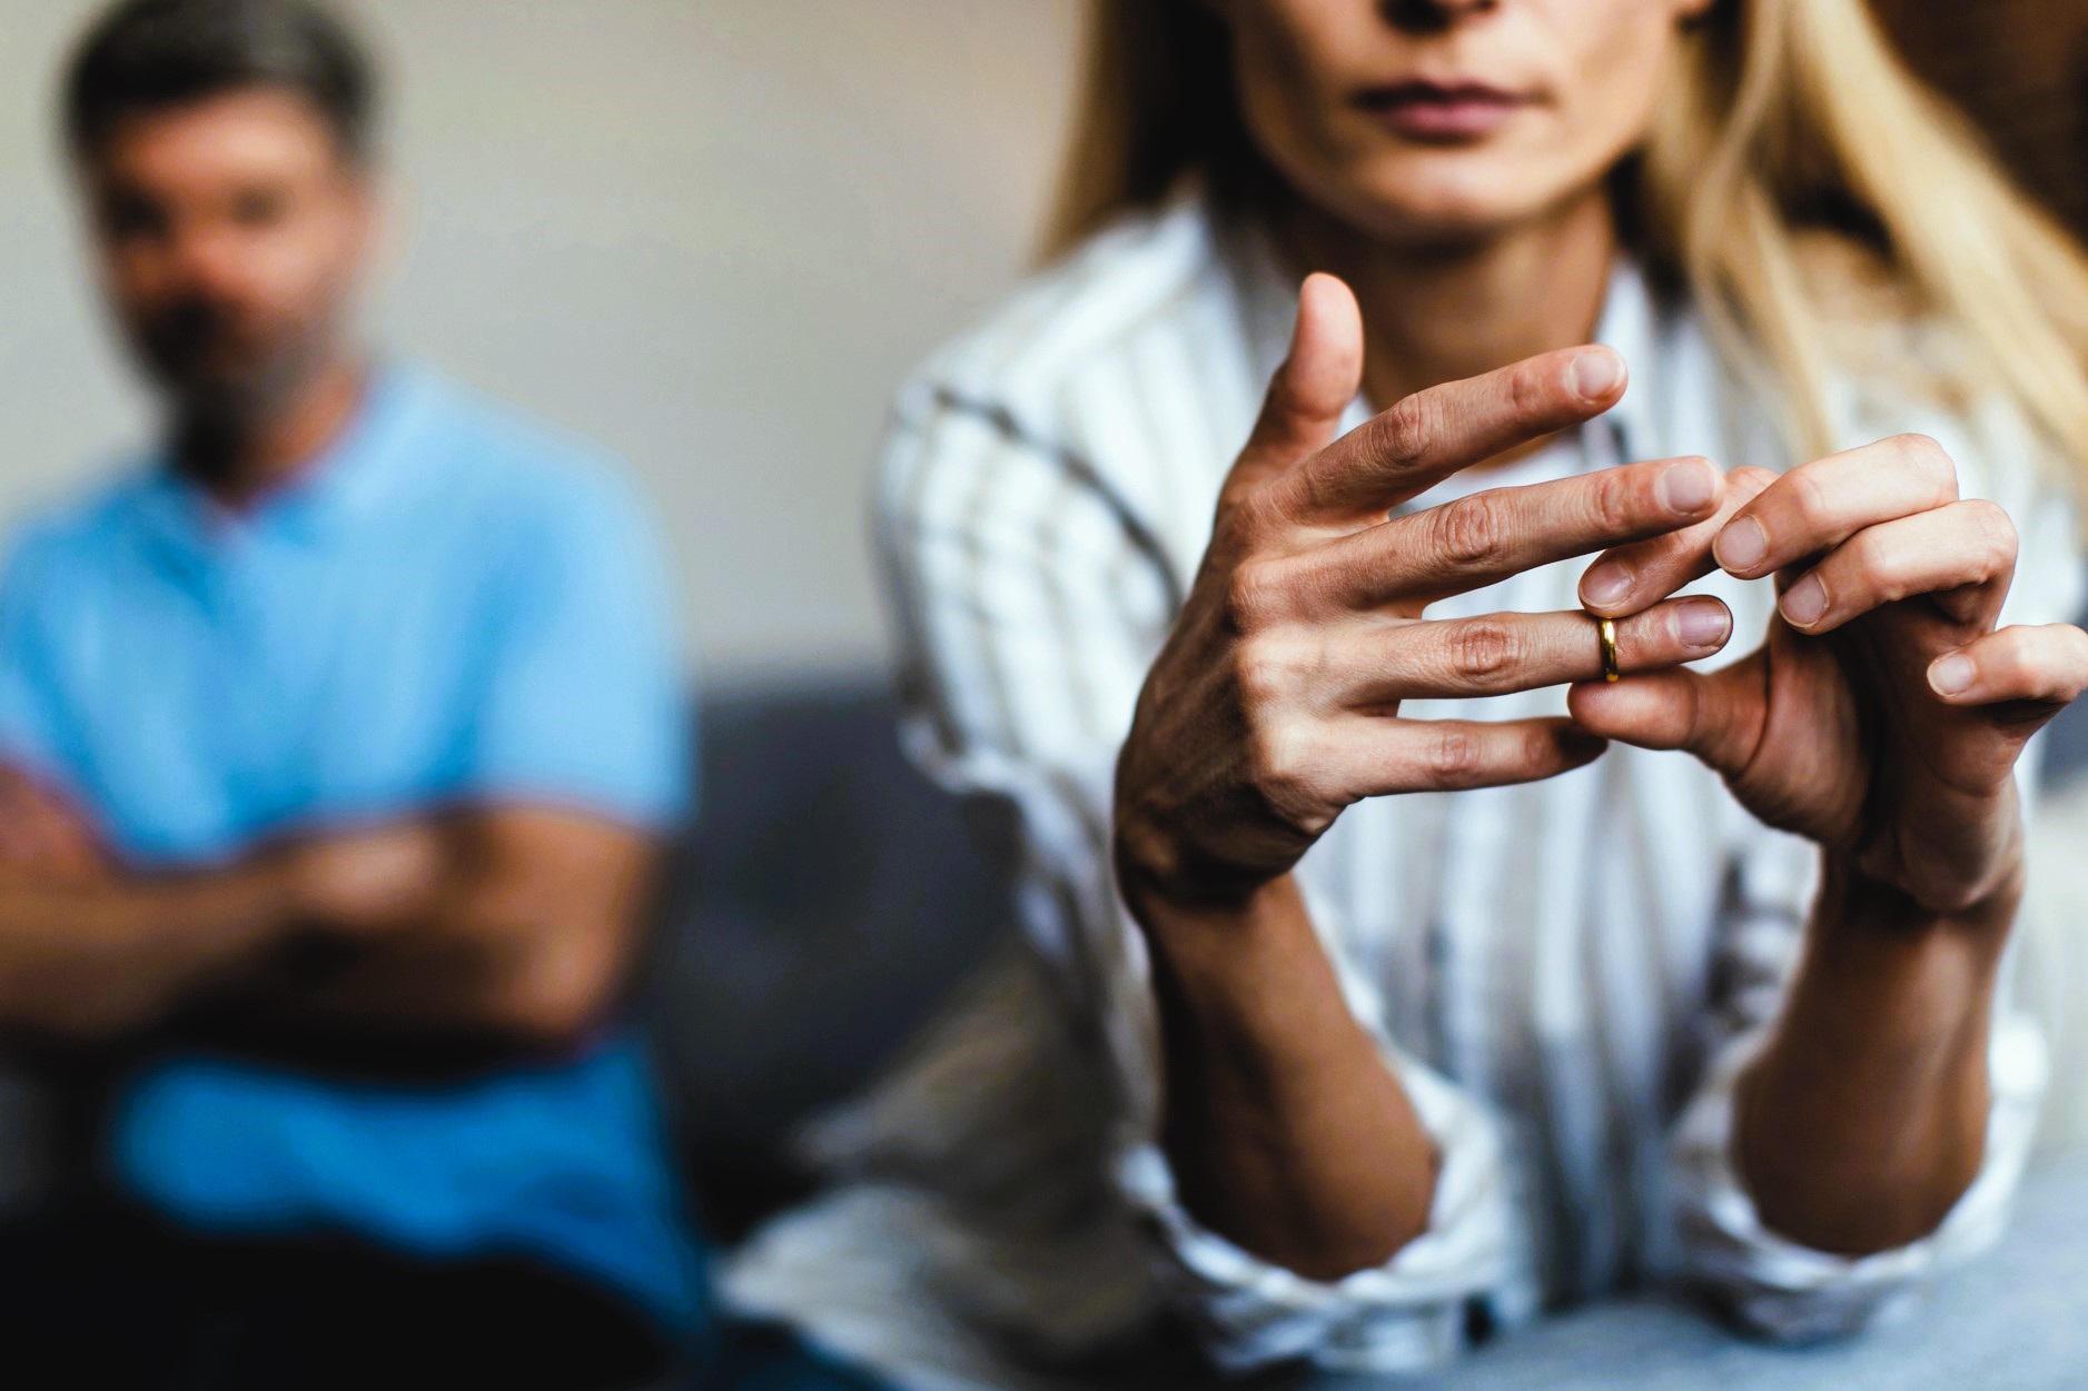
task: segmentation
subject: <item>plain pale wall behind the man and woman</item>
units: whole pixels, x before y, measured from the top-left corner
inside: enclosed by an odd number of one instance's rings
[[[90,0],[0,0],[0,528],[146,430],[56,159]],[[714,683],[881,660],[892,388],[1021,274],[1075,0],[361,0],[399,236],[376,332],[620,451]]]

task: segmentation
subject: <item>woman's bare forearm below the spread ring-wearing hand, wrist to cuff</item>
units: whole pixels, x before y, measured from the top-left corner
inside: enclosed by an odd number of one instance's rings
[[[1434,1147],[1349,1013],[1295,881],[1238,911],[1136,913],[1153,946],[1161,1140],[1182,1203],[1242,1249],[1322,1280],[1420,1236]]]

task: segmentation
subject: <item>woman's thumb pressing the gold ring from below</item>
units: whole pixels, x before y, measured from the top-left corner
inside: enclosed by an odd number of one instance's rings
[[[1718,773],[1739,773],[1762,744],[1762,656],[1714,673],[1670,668],[1566,691],[1589,733],[1637,748],[1683,750]]]

